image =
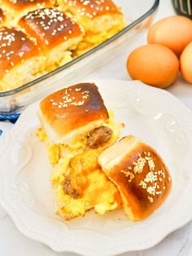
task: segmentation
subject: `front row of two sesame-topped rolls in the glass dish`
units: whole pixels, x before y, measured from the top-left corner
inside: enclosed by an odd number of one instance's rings
[[[1,90],[12,90],[72,60],[71,51],[83,36],[78,24],[53,8],[31,11],[19,24],[0,29]]]

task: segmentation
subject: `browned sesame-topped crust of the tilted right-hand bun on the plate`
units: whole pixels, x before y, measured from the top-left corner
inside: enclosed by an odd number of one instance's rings
[[[146,160],[143,170],[135,167],[138,166],[138,158]],[[154,170],[150,167],[153,166],[153,162]],[[120,190],[125,213],[128,213],[126,205],[129,205],[134,220],[146,218],[159,208],[172,186],[172,180],[163,159],[153,148],[144,143],[137,143],[137,146],[129,151],[112,170],[107,170],[106,174]]]

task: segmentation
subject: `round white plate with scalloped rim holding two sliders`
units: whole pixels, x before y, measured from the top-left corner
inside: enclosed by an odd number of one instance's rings
[[[168,199],[150,218],[132,223],[123,210],[105,216],[93,212],[64,222],[54,214],[51,166],[39,126],[37,103],[28,107],[0,144],[0,201],[26,236],[58,252],[114,255],[147,249],[192,218],[192,113],[165,90],[141,82],[96,81],[107,108],[124,121],[123,135],[151,144],[170,169]]]

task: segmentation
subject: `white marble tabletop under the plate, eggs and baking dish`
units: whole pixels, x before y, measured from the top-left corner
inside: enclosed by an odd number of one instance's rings
[[[168,15],[172,15],[171,0],[160,0],[159,11],[155,17],[155,20]],[[127,51],[123,55],[118,57],[118,60],[111,61],[110,64],[103,66],[90,73],[89,76],[85,77],[86,80],[92,78],[114,78],[127,80],[129,79],[126,69],[125,62],[127,55],[136,46],[140,46],[146,43],[146,31],[137,34],[133,38],[132,42],[129,42]],[[177,82],[168,88],[168,90],[176,95],[178,99],[192,109],[192,85],[183,82],[178,79]],[[7,130],[11,127],[10,124],[0,124],[0,129]],[[177,214],[177,213],[176,213]],[[145,234],[143,234],[145,236]],[[0,256],[75,256],[76,254],[57,254],[45,245],[41,245],[37,241],[32,241],[27,237],[23,236],[15,227],[11,218],[7,213],[2,210],[0,206]],[[133,252],[123,254],[124,256],[191,256],[192,255],[192,223],[189,223],[185,227],[176,232],[172,232],[167,236],[164,241],[160,242],[159,245],[151,249],[147,249],[141,252]],[[122,256],[123,256],[122,255]],[[100,256],[100,255],[99,255]]]

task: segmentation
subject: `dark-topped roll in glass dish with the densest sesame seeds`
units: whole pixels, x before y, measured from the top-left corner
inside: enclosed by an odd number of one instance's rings
[[[19,21],[22,27],[44,51],[46,71],[51,71],[72,60],[74,50],[82,40],[83,32],[78,24],[62,11],[41,8],[28,12]]]

